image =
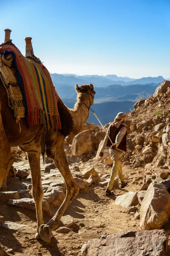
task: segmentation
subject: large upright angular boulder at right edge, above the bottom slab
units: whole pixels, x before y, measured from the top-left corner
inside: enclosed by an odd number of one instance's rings
[[[140,228],[161,229],[170,217],[170,194],[160,183],[150,183],[141,204]]]

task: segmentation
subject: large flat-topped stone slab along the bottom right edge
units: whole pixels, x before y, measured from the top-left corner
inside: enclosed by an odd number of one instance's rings
[[[82,245],[82,256],[167,256],[168,234],[164,230],[140,230],[103,235]]]

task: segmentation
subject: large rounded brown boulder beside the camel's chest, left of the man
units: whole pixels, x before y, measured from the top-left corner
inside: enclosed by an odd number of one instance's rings
[[[77,134],[71,145],[71,153],[74,156],[81,156],[94,149],[93,135],[90,130],[85,130]]]

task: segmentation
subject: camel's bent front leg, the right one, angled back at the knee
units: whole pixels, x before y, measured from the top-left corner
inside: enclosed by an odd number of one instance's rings
[[[51,157],[51,156],[49,156]],[[75,182],[70,169],[68,167],[67,159],[65,156],[65,151],[63,146],[60,148],[57,148],[55,151],[54,157],[53,157],[54,163],[59,169],[59,172],[62,174],[65,185],[66,185],[66,196],[64,201],[62,202],[62,205],[59,207],[58,211],[54,215],[53,218],[51,218],[50,221],[48,221],[47,224],[40,226],[40,236],[41,238],[46,241],[47,243],[50,243],[51,241],[51,232],[58,227],[59,221],[65,212],[65,209],[67,209],[68,205],[71,203],[71,201],[76,197],[76,195],[79,192],[79,187],[77,183]]]

